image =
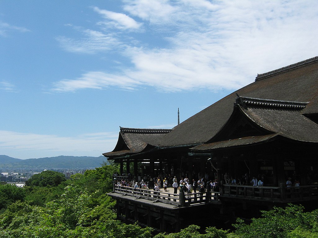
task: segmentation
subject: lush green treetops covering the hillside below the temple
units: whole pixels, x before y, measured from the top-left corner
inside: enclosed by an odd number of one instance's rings
[[[315,238],[318,211],[304,212],[301,206],[274,208],[247,225],[238,220],[233,231],[209,227],[199,233],[191,225],[179,233],[154,234],[152,228],[127,225],[115,220],[115,202],[106,195],[112,190],[116,165],[87,170],[65,180],[63,174],[45,171],[33,176],[26,187],[0,185],[0,237],[47,238]]]

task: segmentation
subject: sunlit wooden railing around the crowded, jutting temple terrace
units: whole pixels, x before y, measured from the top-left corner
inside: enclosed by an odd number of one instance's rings
[[[123,196],[132,196],[138,198],[143,198],[147,200],[152,200],[154,202],[162,202],[166,204],[172,204],[176,206],[190,206],[192,204],[197,203],[206,203],[206,202],[213,202],[219,203],[218,200],[218,192],[211,193],[191,193],[191,194],[184,194],[184,198],[180,198],[182,194],[172,194],[167,192],[159,192],[154,190],[148,189],[141,189],[141,188],[131,188],[131,187],[123,187],[119,185],[114,186],[114,193],[122,194]],[[183,202],[184,201],[184,202]]]

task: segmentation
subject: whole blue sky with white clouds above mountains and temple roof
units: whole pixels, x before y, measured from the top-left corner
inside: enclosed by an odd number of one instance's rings
[[[0,0],[0,154],[100,156],[318,55],[318,1]]]

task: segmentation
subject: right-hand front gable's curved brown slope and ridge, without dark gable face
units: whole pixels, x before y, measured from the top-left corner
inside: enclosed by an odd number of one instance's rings
[[[236,106],[260,127],[289,139],[318,142],[318,125],[301,114],[308,103],[236,98]]]

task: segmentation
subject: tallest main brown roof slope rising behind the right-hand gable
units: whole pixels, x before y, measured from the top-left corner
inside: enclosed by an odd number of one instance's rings
[[[305,108],[297,110],[298,116],[318,113],[317,56],[307,61],[283,67],[273,73],[268,72],[259,75],[257,78],[258,80],[255,82],[222,98],[174,127],[173,131],[162,137],[161,146],[209,141],[224,127],[232,115],[236,94],[243,95],[246,98],[267,98],[281,101],[282,104],[286,105],[288,105],[287,102],[309,102]],[[272,102],[266,103],[271,104]]]

